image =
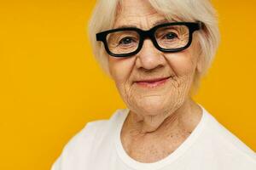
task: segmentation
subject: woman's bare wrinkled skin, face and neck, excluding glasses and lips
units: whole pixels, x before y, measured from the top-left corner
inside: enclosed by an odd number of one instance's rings
[[[165,16],[147,1],[124,0],[114,28],[137,26],[148,30],[163,20]],[[131,110],[122,128],[122,143],[137,161],[152,162],[167,156],[200,121],[201,110],[189,97],[195,71],[201,71],[198,51],[194,36],[191,46],[178,53],[160,52],[146,39],[141,51],[130,58],[108,56],[113,81]],[[155,77],[170,78],[156,88],[143,88],[135,83]]]

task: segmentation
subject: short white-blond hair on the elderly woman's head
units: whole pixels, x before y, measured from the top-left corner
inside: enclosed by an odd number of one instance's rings
[[[201,77],[207,73],[216,54],[220,36],[218,17],[210,0],[148,0],[152,7],[164,14],[167,20],[201,21],[203,29],[196,35],[201,46],[200,57],[203,59],[202,71],[195,72],[194,91],[199,88]],[[90,18],[89,37],[96,60],[110,76],[108,54],[101,42],[96,42],[96,33],[113,28],[117,8],[122,0],[98,0]]]

